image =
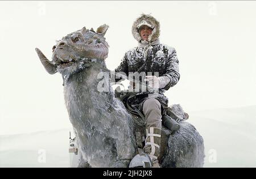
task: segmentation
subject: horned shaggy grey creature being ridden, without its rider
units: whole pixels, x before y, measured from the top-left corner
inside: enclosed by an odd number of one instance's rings
[[[83,28],[63,37],[53,47],[51,62],[36,49],[48,73],[58,71],[63,76],[65,104],[82,154],[79,167],[128,167],[137,152],[133,118],[111,86],[106,86],[108,92],[98,91],[106,79],[98,74],[109,71],[104,61],[107,29],[107,25],[97,32]],[[203,138],[191,124],[181,126],[175,134],[164,129],[168,148],[162,167],[203,167]]]

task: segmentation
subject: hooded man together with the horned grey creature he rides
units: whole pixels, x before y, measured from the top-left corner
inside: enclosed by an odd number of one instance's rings
[[[124,103],[115,97],[111,86],[104,92],[98,88],[102,82],[99,74],[110,74],[105,64],[109,47],[104,37],[107,29],[108,25],[104,24],[96,31],[84,27],[69,33],[53,46],[52,61],[36,48],[47,72],[59,72],[63,77],[65,105],[81,154],[78,167],[128,167],[138,154],[136,121],[133,116],[126,110]],[[126,53],[115,71],[126,74],[129,71],[159,73],[159,76],[145,76],[149,86],[158,86],[158,93],[146,91],[128,97],[133,109],[145,116],[147,134],[144,152],[158,167],[156,158],[161,149],[160,139],[164,136],[161,134],[162,128],[167,133],[163,139],[165,149],[160,161],[162,167],[202,167],[203,138],[195,127],[188,122],[180,122],[179,133],[174,134],[161,123],[167,116],[165,112],[168,113],[168,99],[163,92],[179,80],[175,49],[159,43],[159,23],[150,15],[142,15],[137,19],[133,34],[139,46]],[[183,110],[176,111],[183,116],[181,118],[185,118]]]

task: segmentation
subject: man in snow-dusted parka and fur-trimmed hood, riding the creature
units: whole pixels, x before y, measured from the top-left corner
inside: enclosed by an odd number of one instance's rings
[[[158,95],[150,92],[142,92],[130,99],[131,106],[144,114],[146,125],[146,143],[144,152],[151,157],[155,167],[158,167],[160,152],[162,116],[166,114],[168,99],[163,95],[180,79],[179,61],[176,50],[167,45],[160,44],[160,24],[151,15],[142,14],[135,20],[132,33],[138,46],[125,53],[116,72],[128,73],[152,73],[144,79],[148,86],[157,88]],[[139,86],[138,83],[130,83],[130,87]]]

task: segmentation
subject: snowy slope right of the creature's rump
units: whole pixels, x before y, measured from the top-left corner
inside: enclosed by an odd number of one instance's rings
[[[204,167],[256,167],[256,106],[190,113],[204,138]]]

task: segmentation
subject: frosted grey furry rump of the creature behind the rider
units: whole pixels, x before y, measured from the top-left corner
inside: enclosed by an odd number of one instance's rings
[[[163,127],[168,135],[168,150],[161,161],[161,167],[203,167],[204,165],[204,140],[191,125],[181,121],[180,130],[170,134],[170,130]]]

